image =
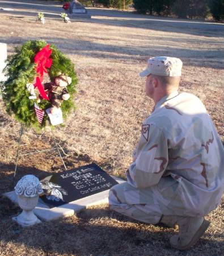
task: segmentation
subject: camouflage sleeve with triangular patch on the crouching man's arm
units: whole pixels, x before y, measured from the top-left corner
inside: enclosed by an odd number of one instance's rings
[[[136,160],[126,172],[128,183],[137,188],[158,184],[168,164],[167,139],[154,125],[143,125]]]

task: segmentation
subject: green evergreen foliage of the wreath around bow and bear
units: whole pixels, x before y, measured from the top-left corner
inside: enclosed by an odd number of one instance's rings
[[[7,113],[14,114],[15,119],[23,123],[27,127],[36,127],[40,129],[46,126],[48,115],[44,114],[43,121],[38,122],[34,104],[36,103],[40,109],[46,110],[52,106],[49,100],[29,99],[30,92],[27,90],[27,84],[33,84],[37,76],[36,66],[34,62],[35,56],[41,51],[47,43],[44,41],[28,41],[21,47],[15,48],[15,54],[11,55],[6,60],[4,69],[7,77],[6,81],[0,82],[0,89],[3,101],[5,102]],[[71,78],[71,83],[67,86],[67,91],[72,96],[75,93],[77,85],[77,76],[74,71],[74,64],[62,52],[60,52],[53,44],[49,47],[52,50],[50,59],[52,64],[47,68],[50,81],[60,74],[64,74]],[[69,100],[63,101],[61,110],[63,118],[66,118],[71,109],[74,109],[72,97]]]

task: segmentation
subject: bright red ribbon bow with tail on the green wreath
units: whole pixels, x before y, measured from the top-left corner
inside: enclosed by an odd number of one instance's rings
[[[50,47],[50,44],[48,44],[39,52],[37,52],[34,57],[34,63],[36,63],[35,70],[37,72],[36,83],[34,84],[34,86],[39,89],[40,96],[48,101],[49,101],[49,98],[45,93],[44,87],[41,84],[41,82],[43,82],[44,72],[48,73],[47,68],[50,68],[50,66],[52,65],[52,59],[50,59],[52,49],[50,49],[49,47]]]

